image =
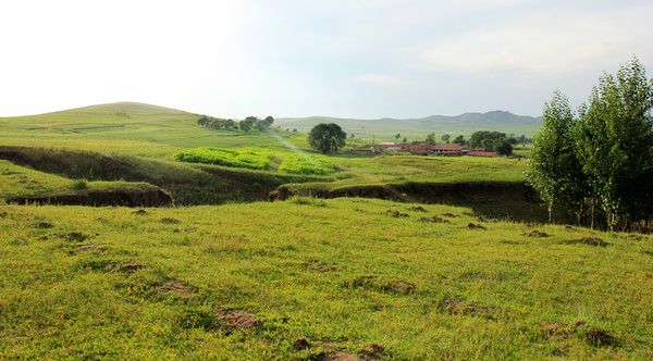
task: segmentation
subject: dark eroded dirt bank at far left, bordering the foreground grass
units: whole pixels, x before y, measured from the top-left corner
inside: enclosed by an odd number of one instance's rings
[[[122,207],[170,207],[172,197],[161,189],[89,191],[78,195],[49,195],[14,197],[8,203],[57,204],[57,206],[122,206]]]

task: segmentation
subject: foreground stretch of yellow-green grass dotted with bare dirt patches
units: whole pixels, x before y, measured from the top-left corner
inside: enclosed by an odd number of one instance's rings
[[[651,359],[652,241],[364,199],[2,206],[0,358]]]

